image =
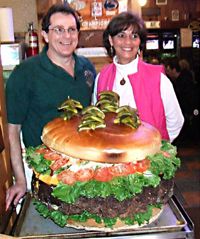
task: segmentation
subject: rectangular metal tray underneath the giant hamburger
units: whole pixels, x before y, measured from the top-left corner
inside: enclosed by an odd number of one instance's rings
[[[50,219],[44,219],[35,210],[30,195],[25,198],[13,235],[29,238],[194,238],[193,223],[175,196],[164,207],[158,220],[137,229],[118,232],[97,232],[60,228]]]

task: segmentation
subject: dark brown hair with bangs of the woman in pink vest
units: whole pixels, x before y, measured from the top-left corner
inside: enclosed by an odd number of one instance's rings
[[[144,21],[132,12],[122,12],[111,19],[103,33],[103,45],[109,56],[113,57],[115,55],[115,49],[111,50],[109,36],[114,37],[119,32],[127,30],[130,26],[133,27],[135,32],[137,32],[140,37],[140,50],[144,48],[146,41],[146,28]]]

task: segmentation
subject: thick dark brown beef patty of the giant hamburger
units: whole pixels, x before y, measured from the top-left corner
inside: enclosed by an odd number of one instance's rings
[[[36,199],[47,204],[49,209],[52,209],[52,205],[56,205],[59,211],[67,215],[81,214],[87,210],[100,217],[125,218],[135,213],[145,212],[149,204],[165,204],[173,194],[173,180],[161,180],[156,188],[144,187],[142,193],[131,199],[118,201],[112,196],[106,198],[80,197],[74,204],[69,204],[51,195],[54,186],[47,185],[36,178],[33,178],[32,183],[33,194]],[[35,187],[34,185],[39,186]]]

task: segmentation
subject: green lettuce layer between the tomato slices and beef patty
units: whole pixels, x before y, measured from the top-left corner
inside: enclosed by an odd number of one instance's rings
[[[113,196],[119,201],[132,198],[141,193],[143,187],[156,187],[160,183],[159,176],[146,177],[143,174],[135,173],[123,177],[115,177],[108,182],[91,180],[88,182],[77,182],[74,185],[60,183],[52,192],[52,195],[63,202],[74,203],[83,196],[87,198]]]

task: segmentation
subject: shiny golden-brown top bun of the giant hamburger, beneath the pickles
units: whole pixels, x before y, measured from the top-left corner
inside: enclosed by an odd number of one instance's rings
[[[106,113],[106,128],[78,131],[80,116],[56,118],[43,128],[42,141],[49,148],[74,158],[105,163],[136,162],[155,154],[161,135],[142,122],[137,129],[114,124],[115,113]]]

